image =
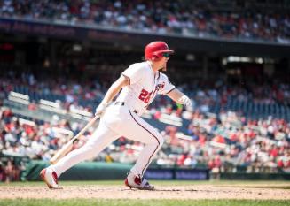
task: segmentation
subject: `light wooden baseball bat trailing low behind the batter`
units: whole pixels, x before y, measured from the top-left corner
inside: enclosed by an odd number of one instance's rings
[[[62,156],[67,155],[67,152],[69,152],[73,148],[74,141],[80,138],[80,136],[82,136],[82,134],[84,134],[90,128],[90,126],[92,126],[95,123],[95,121],[97,121],[98,118],[99,118],[98,116],[95,116],[94,118],[90,119],[90,122],[88,122],[88,124],[84,126],[78,134],[76,134],[61,149],[59,149],[59,151],[54,156],[51,157],[50,163],[56,164],[57,162],[59,162],[59,159]]]

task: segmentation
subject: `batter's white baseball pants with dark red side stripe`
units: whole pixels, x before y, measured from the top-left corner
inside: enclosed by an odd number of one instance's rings
[[[145,143],[145,147],[137,158],[137,163],[131,169],[135,175],[143,176],[153,156],[161,149],[164,140],[153,126],[137,116],[135,112],[129,111],[126,105],[109,106],[89,141],[50,167],[59,177],[61,173],[75,164],[97,156],[99,152],[121,136]]]

